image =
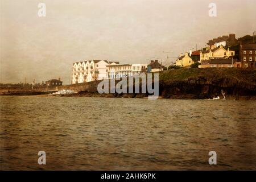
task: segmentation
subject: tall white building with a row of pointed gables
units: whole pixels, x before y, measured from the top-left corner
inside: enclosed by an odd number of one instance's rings
[[[108,79],[107,65],[119,64],[116,61],[88,60],[73,63],[72,84]]]

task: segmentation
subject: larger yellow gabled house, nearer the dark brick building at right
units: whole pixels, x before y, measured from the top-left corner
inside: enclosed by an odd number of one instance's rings
[[[200,52],[200,60],[209,59],[228,59],[230,56],[234,56],[234,51],[226,50],[223,46],[219,46],[213,49],[207,49]]]

